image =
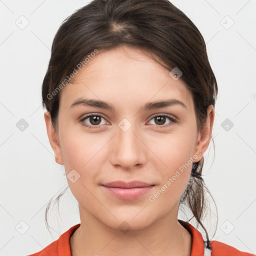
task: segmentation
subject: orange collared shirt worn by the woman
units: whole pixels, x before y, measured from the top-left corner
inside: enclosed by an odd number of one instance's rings
[[[228,244],[216,240],[210,241],[210,245],[212,247],[210,254],[210,251],[204,247],[205,243],[201,233],[190,223],[180,219],[178,221],[188,230],[192,236],[190,256],[253,256],[251,253],[242,252]],[[28,256],[72,256],[69,239],[75,229],[77,229],[79,226],[80,223],[70,227],[67,231],[61,234],[57,240],[47,245],[44,249]]]

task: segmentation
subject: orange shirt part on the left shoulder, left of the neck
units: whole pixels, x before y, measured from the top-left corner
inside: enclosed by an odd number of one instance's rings
[[[42,250],[27,256],[71,256],[69,239],[79,226],[80,223],[71,226],[68,230],[62,233],[57,240],[51,242]]]

